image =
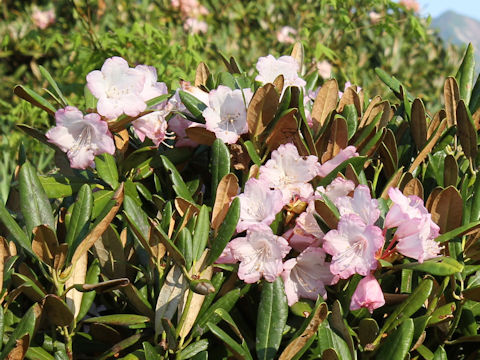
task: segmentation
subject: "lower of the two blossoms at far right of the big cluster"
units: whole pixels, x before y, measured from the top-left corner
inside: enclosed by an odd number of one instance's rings
[[[435,224],[431,215],[403,222],[395,232],[397,251],[422,263],[424,260],[434,258],[440,254],[440,246],[434,240],[440,228]]]

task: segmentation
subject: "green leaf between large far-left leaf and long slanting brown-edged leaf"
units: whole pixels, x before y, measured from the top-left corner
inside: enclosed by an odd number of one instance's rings
[[[87,235],[90,223],[90,215],[93,209],[93,194],[90,186],[85,184],[81,187],[74,203],[72,216],[68,224],[65,242],[68,244],[69,257],[73,255],[78,244]]]

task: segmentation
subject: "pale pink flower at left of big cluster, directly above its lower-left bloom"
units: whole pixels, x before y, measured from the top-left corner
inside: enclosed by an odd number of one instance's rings
[[[268,184],[255,178],[250,178],[245,184],[240,199],[240,221],[237,232],[253,229],[259,224],[270,225],[275,215],[282,210],[282,192],[271,190]]]

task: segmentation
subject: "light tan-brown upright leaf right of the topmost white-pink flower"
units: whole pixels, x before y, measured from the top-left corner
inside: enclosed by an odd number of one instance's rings
[[[325,81],[315,98],[312,108],[313,130],[316,133],[323,126],[327,117],[337,108],[337,80]]]

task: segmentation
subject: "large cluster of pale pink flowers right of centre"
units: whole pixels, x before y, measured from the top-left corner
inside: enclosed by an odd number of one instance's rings
[[[315,178],[329,174],[338,164],[358,156],[354,147],[320,164],[316,156],[300,156],[293,144],[281,145],[261,166],[258,178],[250,178],[240,199],[239,237],[226,247],[219,262],[239,263],[238,276],[246,283],[260,278],[274,281],[281,276],[289,305],[300,298],[327,296],[325,286],[354,274],[364,278],[352,297],[351,309],[370,312],[385,303],[374,273],[379,259],[394,252],[422,262],[439,254],[434,238],[438,226],[415,196],[404,196],[397,188],[389,190],[390,210],[382,216],[378,201],[366,185],[343,177],[325,188],[314,189]],[[322,213],[316,202],[331,204],[338,211],[338,225],[326,233],[317,219]],[[303,206],[301,205],[303,204]],[[293,225],[281,235],[271,225],[282,212],[303,209]],[[277,228],[277,227],[276,227]],[[388,229],[396,228],[384,249]],[[394,246],[396,244],[396,246]]]

